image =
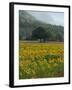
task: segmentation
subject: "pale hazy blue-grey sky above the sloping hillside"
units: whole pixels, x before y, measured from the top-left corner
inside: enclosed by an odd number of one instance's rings
[[[48,12],[48,11],[27,11],[27,12],[42,22],[64,26],[63,12]]]

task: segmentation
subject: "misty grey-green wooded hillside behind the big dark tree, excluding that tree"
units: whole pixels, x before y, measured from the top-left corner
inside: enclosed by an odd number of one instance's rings
[[[24,10],[19,10],[19,39],[32,40],[32,32],[38,27],[43,28],[46,32],[51,33],[49,40],[64,41],[64,27],[52,25],[37,20],[34,16]]]

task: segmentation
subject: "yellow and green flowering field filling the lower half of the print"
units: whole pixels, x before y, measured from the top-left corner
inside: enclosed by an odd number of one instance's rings
[[[64,44],[61,42],[19,45],[19,79],[64,76]]]

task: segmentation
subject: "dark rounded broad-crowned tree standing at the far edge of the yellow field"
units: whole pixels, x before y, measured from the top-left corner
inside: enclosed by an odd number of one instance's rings
[[[40,39],[40,42],[43,40],[44,42],[48,38],[48,34],[46,30],[42,27],[38,27],[35,30],[32,31],[32,39]]]

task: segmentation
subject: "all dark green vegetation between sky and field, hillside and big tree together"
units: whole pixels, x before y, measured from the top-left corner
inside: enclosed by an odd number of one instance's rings
[[[64,27],[36,20],[27,11],[19,11],[19,39],[45,41],[64,41]]]

